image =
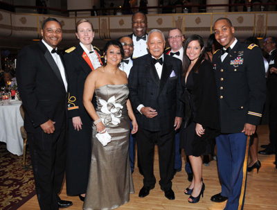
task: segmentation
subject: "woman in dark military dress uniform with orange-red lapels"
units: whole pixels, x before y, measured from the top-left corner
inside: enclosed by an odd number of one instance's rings
[[[102,66],[100,53],[91,45],[94,32],[90,21],[76,24],[80,43],[66,50],[64,61],[69,79],[69,143],[66,157],[66,192],[84,200],[91,162],[92,119],[84,109],[84,81],[91,71]]]

